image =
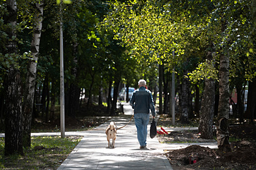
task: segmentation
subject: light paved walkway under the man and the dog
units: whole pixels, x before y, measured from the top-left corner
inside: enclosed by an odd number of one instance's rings
[[[127,108],[126,104],[125,113],[131,115],[131,109]],[[129,119],[126,116],[112,120],[117,127],[122,127]],[[58,170],[172,170],[157,137],[151,139],[148,133],[147,148],[139,148],[134,119],[117,131],[115,148],[107,148],[105,129],[108,124],[109,121],[84,132],[84,138]]]

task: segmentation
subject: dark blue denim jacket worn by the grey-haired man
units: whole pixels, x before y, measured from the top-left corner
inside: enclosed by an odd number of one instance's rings
[[[132,93],[132,96],[130,98],[130,105],[134,109],[134,114],[149,114],[150,109],[152,116],[155,116],[155,106],[151,91],[143,86]]]

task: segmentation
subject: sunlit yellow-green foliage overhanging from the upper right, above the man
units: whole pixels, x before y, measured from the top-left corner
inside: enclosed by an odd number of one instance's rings
[[[115,1],[103,27],[113,32],[122,45],[130,47],[131,54],[139,62],[165,63],[169,70],[180,65],[188,57],[200,56],[205,60],[206,52],[215,52],[213,61],[201,61],[190,75],[193,80],[218,76],[216,67],[219,55],[246,54],[243,62],[244,76],[255,77],[255,50],[249,43],[251,31],[250,1]],[[175,50],[175,58],[171,51]],[[231,65],[231,68],[237,68]],[[240,68],[238,68],[240,69]],[[231,70],[231,73],[234,72]],[[235,73],[235,72],[234,72]],[[193,76],[192,76],[193,75]],[[231,74],[234,76],[235,74]]]

